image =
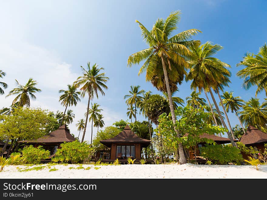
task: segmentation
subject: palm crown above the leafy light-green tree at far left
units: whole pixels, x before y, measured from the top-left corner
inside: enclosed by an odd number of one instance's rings
[[[32,78],[28,80],[25,86],[21,85],[16,79],[15,81],[17,87],[12,89],[6,97],[11,95],[17,95],[13,100],[12,104],[19,102],[19,107],[30,107],[30,98],[35,100],[36,96],[34,95],[34,93],[42,91],[41,89],[35,87],[38,83]]]

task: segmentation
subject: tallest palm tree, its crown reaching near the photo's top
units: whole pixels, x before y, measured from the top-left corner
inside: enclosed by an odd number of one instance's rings
[[[199,41],[188,41],[188,39],[200,32],[197,29],[191,29],[170,37],[172,32],[177,29],[176,25],[180,21],[180,14],[180,11],[175,11],[171,12],[165,20],[158,19],[151,31],[148,31],[143,24],[136,20],[140,26],[142,36],[149,45],[149,48],[134,53],[128,58],[128,66],[139,64],[141,61],[145,60],[144,65],[140,68],[139,74],[146,71],[146,79],[149,81],[156,74],[159,76],[164,75],[172,121],[174,124],[176,117],[171,98],[172,92],[169,79],[176,83],[181,82],[184,78],[184,74],[186,73],[185,68],[188,68],[188,63],[186,62],[185,57],[188,57],[191,54],[188,47],[199,43]],[[158,80],[161,80],[161,78]],[[163,83],[161,85],[163,85]],[[177,137],[181,137],[179,130],[177,130],[175,126],[174,130],[177,132]],[[178,144],[178,150],[180,155],[180,164],[186,163],[181,143]]]

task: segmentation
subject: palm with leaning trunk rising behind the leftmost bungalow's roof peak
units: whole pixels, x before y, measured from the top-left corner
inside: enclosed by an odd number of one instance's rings
[[[81,93],[76,91],[77,88],[74,85],[68,85],[68,90],[59,90],[59,93],[63,93],[59,96],[59,101],[61,104],[66,106],[62,120],[60,122],[59,127],[62,125],[63,118],[65,116],[66,110],[68,106],[76,106],[78,101],[81,101],[79,96]]]

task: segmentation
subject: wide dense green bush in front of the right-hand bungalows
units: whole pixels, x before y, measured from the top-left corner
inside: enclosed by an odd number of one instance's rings
[[[215,164],[225,165],[229,162],[240,164],[243,160],[240,149],[228,145],[206,145],[199,148],[201,156],[214,160]]]

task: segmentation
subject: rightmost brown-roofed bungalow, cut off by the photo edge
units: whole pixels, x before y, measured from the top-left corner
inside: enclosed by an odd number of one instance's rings
[[[264,144],[267,144],[267,133],[260,131],[252,125],[248,126],[248,129],[244,135],[238,140],[245,146],[252,146],[254,149],[264,151]],[[249,154],[242,153],[244,159],[248,159]]]

